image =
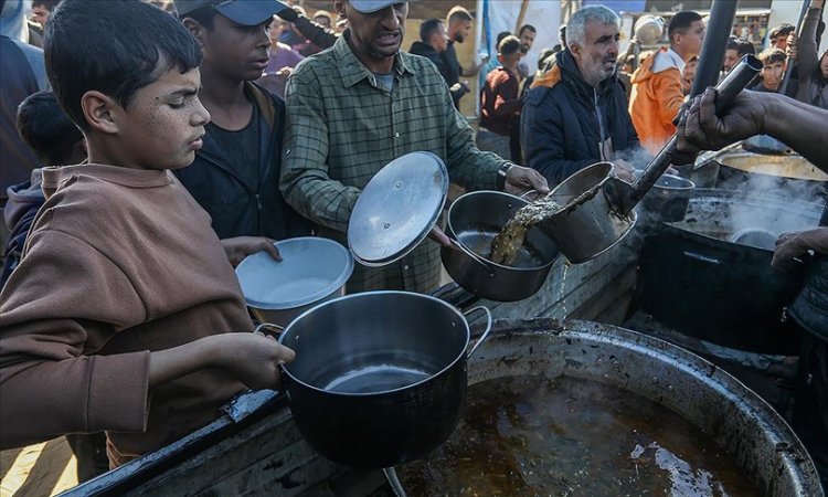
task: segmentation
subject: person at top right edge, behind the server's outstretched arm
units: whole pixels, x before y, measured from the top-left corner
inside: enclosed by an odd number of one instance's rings
[[[799,86],[796,99],[828,109],[828,49],[817,57],[817,28],[825,0],[811,0],[803,22],[802,39],[792,34],[788,40],[790,57],[796,60]]]

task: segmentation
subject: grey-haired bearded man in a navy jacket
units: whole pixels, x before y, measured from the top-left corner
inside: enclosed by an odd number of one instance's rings
[[[614,161],[619,176],[631,179],[631,166],[619,157],[638,148],[615,70],[619,25],[618,15],[603,6],[575,12],[566,25],[567,50],[529,91],[523,151],[528,166],[550,184],[602,160]]]

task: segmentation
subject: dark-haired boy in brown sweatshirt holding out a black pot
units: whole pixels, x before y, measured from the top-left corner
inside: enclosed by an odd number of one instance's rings
[[[229,262],[272,245],[220,242],[170,172],[210,120],[198,42],[140,0],[64,0],[45,56],[89,163],[44,169],[0,294],[0,447],[106,430],[117,465],[208,424],[245,385],[275,388],[293,351],[250,332]]]

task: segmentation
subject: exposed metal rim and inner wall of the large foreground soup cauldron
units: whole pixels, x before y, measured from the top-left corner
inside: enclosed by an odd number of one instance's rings
[[[498,320],[486,348],[470,361],[469,383],[519,376],[565,376],[641,395],[712,438],[746,473],[756,495],[825,495],[808,453],[773,408],[724,370],[666,341],[596,322]]]

